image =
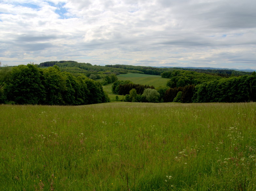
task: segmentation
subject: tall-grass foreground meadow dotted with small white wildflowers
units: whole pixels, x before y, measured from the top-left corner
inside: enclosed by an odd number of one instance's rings
[[[256,190],[254,102],[0,112],[0,190]]]

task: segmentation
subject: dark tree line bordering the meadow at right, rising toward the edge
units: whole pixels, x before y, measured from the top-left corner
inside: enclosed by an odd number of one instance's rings
[[[177,98],[179,97],[179,99]],[[221,78],[198,85],[169,88],[164,102],[250,102],[256,101],[256,74]]]

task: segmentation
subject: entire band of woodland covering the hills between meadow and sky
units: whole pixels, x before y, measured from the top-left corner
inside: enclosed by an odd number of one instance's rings
[[[165,86],[120,81],[138,73],[168,78]],[[95,81],[102,79],[101,82]],[[0,103],[85,105],[109,102],[103,86],[126,102],[255,102],[256,73],[235,70],[157,68],[131,65],[97,66],[76,61],[48,61],[0,67]]]

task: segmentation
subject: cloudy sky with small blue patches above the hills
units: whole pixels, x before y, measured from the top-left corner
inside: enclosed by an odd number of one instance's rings
[[[0,0],[3,65],[256,70],[255,0]]]

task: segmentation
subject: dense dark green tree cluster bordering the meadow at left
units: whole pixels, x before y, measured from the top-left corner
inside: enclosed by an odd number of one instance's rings
[[[14,104],[83,105],[108,101],[102,85],[85,76],[61,72],[58,66],[13,67],[1,89],[2,102]]]

